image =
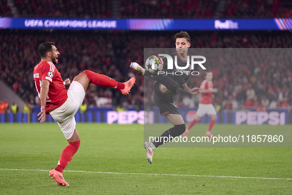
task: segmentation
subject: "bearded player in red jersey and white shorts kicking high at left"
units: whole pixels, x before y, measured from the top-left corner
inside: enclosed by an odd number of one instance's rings
[[[101,87],[116,88],[127,95],[135,83],[132,77],[125,83],[119,83],[105,75],[100,75],[85,70],[76,76],[70,84],[70,80],[64,82],[55,65],[58,64],[59,52],[53,42],[43,43],[39,47],[41,62],[34,68],[34,80],[39,98],[41,99],[41,112],[39,120],[45,121],[45,114],[50,114],[58,122],[69,145],[66,146],[55,169],[49,172],[49,176],[59,186],[69,186],[63,178],[63,170],[72,160],[73,155],[80,146],[80,138],[76,130],[74,115],[79,110],[89,83]],[[68,91],[65,86],[70,85]]]

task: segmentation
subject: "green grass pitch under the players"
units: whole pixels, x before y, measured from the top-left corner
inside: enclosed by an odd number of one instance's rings
[[[0,124],[0,194],[292,193],[292,148],[161,147],[149,164],[142,125],[79,123],[77,130],[81,146],[63,172],[70,187],[59,187],[48,175],[68,145],[59,126]]]

